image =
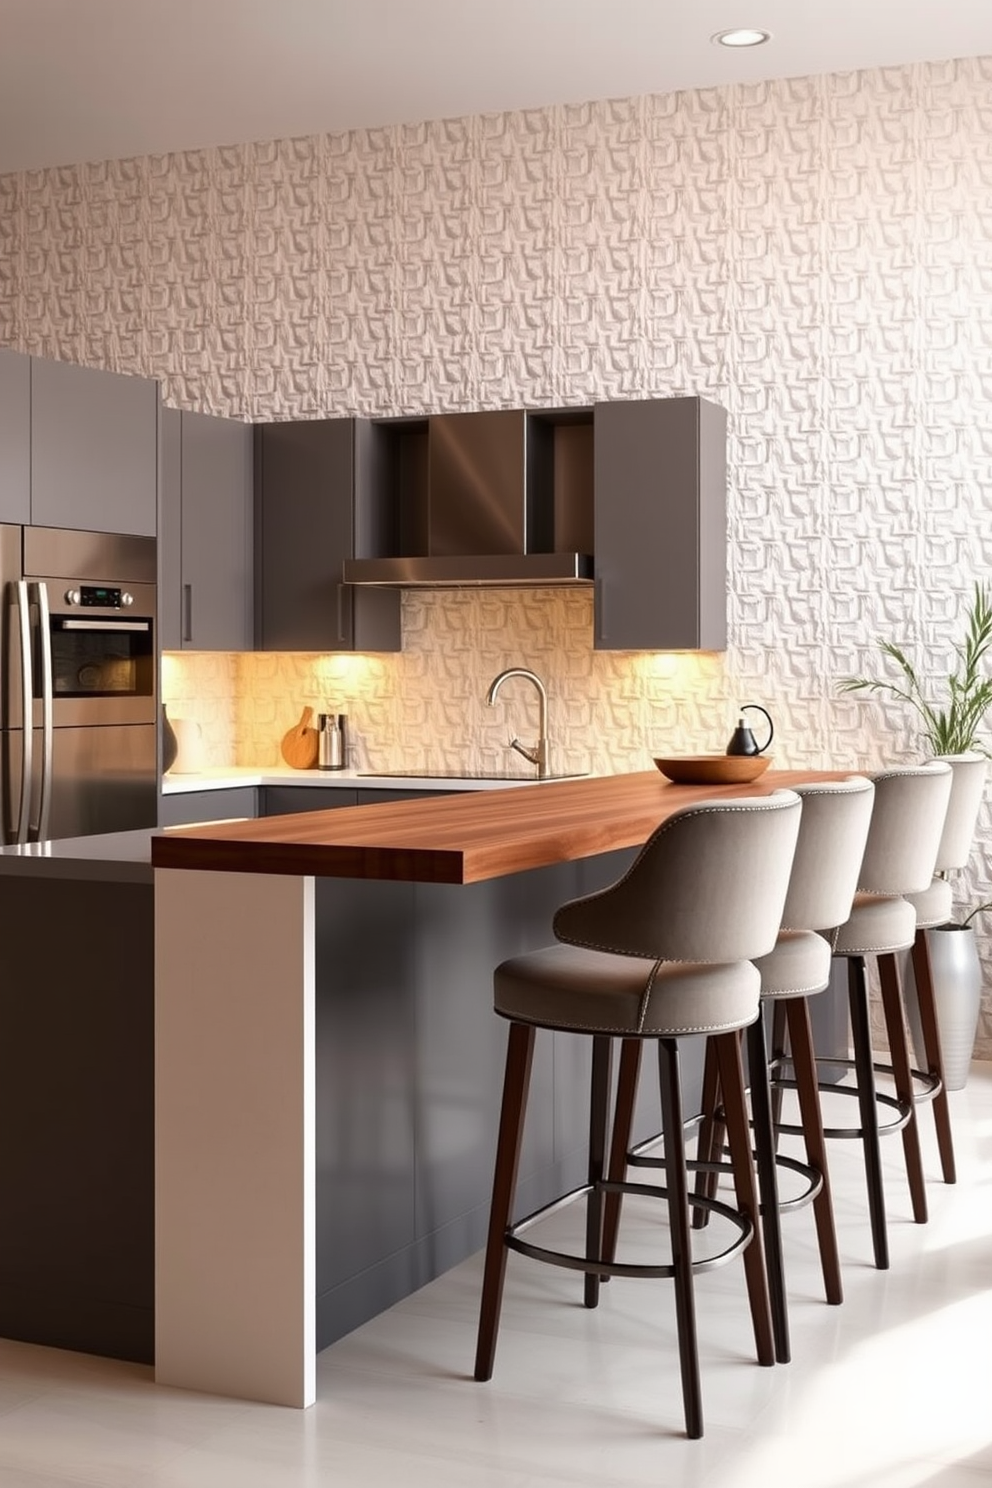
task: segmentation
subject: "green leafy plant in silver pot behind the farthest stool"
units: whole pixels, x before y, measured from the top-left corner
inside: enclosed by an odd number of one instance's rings
[[[931,754],[983,754],[989,759],[992,756],[979,738],[979,731],[992,707],[992,677],[982,670],[991,646],[992,586],[976,583],[967,612],[965,637],[955,646],[955,667],[946,679],[944,705],[930,701],[916,668],[892,641],[879,641],[879,647],[898,667],[901,676],[897,680],[846,677],[840,690],[888,693],[909,704],[919,717],[921,735]],[[967,1080],[982,1006],[982,961],[973,921],[991,908],[992,902],[977,905],[964,920],[952,920],[924,931],[930,948],[944,1085],[952,1091],[961,1089]],[[906,954],[901,960],[913,1048],[918,1064],[925,1068],[912,957]]]

